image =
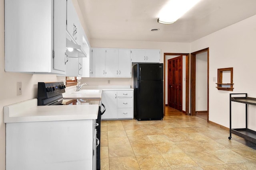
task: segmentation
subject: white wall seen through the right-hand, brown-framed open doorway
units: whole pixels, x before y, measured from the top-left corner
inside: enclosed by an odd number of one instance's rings
[[[196,111],[207,111],[207,52],[196,55]]]

